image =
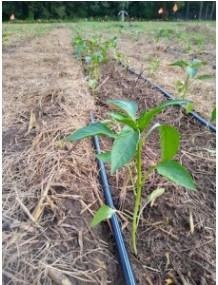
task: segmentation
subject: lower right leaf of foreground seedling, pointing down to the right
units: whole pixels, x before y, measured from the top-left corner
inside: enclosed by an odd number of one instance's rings
[[[165,160],[157,165],[157,172],[187,189],[196,190],[192,176],[188,170],[175,160]]]

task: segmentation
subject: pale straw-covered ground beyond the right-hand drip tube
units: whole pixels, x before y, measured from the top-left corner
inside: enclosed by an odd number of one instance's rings
[[[211,30],[205,31],[206,26],[193,25],[190,28],[192,28],[191,31],[187,30],[189,33],[201,31],[202,33],[211,33]],[[213,33],[215,38],[215,32]],[[197,50],[197,46],[194,45],[192,48],[192,51],[187,51],[182,43],[179,44],[175,40],[160,40],[157,43],[151,35],[144,34],[138,40],[134,40],[131,36],[123,36],[119,39],[119,50],[125,54],[130,67],[134,67],[138,72],[143,72],[152,82],[160,84],[175,96],[178,96],[176,81],[185,80],[185,75],[180,68],[172,67],[170,64],[176,60],[191,61],[194,58],[205,62],[206,65],[201,68],[199,74],[210,74],[213,77],[208,80],[193,80],[186,97],[194,102],[196,111],[210,119],[211,112],[216,105],[216,47],[211,43],[205,43],[200,50]],[[159,59],[160,65],[157,71],[151,75],[149,66],[153,58]]]

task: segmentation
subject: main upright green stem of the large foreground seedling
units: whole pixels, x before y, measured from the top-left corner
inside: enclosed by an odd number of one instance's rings
[[[136,153],[136,169],[137,169],[137,181],[136,181],[136,197],[132,222],[132,247],[134,253],[137,255],[136,247],[136,231],[138,213],[141,205],[141,192],[142,192],[142,139],[139,140],[138,149]]]

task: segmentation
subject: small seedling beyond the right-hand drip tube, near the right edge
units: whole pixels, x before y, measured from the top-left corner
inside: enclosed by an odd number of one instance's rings
[[[185,98],[193,80],[210,79],[212,76],[209,74],[198,75],[199,69],[205,65],[205,62],[199,59],[193,59],[188,62],[185,60],[178,60],[170,64],[171,66],[180,67],[185,73],[185,80],[176,81],[176,91],[179,96]],[[186,112],[190,113],[193,109],[193,103],[189,103],[186,107]]]

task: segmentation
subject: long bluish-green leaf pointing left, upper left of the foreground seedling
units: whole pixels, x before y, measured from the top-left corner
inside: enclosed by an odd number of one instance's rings
[[[97,122],[97,123],[90,124],[87,127],[84,127],[84,128],[81,128],[75,131],[74,133],[69,135],[66,138],[66,140],[72,142],[72,141],[81,140],[83,138],[95,136],[95,135],[105,135],[111,138],[116,137],[116,134],[111,129],[109,129],[106,125],[100,122]]]

